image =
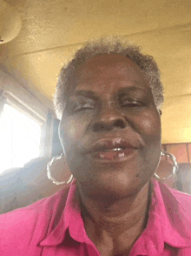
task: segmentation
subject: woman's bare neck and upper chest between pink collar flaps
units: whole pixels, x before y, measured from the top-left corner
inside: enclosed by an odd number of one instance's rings
[[[128,255],[147,225],[151,188],[107,201],[89,197],[78,185],[84,227],[101,255]],[[92,192],[91,192],[92,193]]]

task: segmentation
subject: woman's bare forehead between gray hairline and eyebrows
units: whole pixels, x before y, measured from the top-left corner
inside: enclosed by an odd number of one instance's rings
[[[81,90],[109,90],[137,86],[148,90],[148,79],[138,65],[119,54],[92,57],[78,68],[76,88]],[[113,86],[112,86],[113,85]]]

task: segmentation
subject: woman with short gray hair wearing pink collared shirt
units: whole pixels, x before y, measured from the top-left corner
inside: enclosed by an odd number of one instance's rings
[[[1,216],[0,254],[190,255],[190,197],[152,180],[162,100],[157,65],[138,48],[103,38],[77,51],[55,97],[74,179]]]

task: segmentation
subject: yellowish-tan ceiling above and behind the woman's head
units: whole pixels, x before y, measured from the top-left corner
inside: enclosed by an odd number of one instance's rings
[[[165,89],[162,143],[191,142],[190,0],[10,0],[22,29],[1,44],[1,60],[36,90],[52,98],[56,76],[85,41],[126,37],[155,57]]]

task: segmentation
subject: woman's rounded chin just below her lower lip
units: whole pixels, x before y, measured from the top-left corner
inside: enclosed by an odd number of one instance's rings
[[[138,177],[137,177],[138,176]],[[142,190],[147,183],[146,180],[139,179],[139,175],[130,175],[120,172],[99,172],[94,176],[89,175],[89,179],[76,179],[78,186],[95,200],[112,202],[133,196]]]

